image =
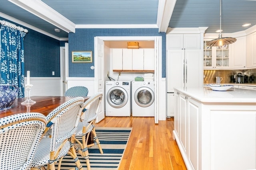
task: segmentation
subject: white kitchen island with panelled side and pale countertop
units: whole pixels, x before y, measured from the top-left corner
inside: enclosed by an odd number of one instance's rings
[[[174,88],[174,131],[188,170],[256,169],[256,91]]]

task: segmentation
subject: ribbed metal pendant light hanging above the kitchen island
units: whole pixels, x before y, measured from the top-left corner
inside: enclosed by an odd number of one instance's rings
[[[214,47],[214,46],[222,46],[222,45],[229,45],[236,42],[236,38],[232,37],[223,37],[221,34],[221,0],[220,0],[220,34],[217,39],[213,39],[212,41],[208,41],[206,43],[207,46],[209,47]]]

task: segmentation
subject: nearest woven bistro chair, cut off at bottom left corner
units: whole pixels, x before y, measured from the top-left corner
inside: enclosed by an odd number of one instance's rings
[[[46,125],[41,113],[0,119],[0,170],[29,170]]]

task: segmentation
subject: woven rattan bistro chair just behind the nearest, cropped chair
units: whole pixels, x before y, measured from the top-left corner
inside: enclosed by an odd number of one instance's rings
[[[32,161],[33,168],[31,170],[45,169],[44,166],[47,166],[47,170],[55,170],[57,161],[58,170],[60,170],[62,158],[66,154],[72,156],[76,163],[76,169],[83,170],[74,149],[74,134],[83,106],[84,98],[79,97],[77,102],[72,105],[66,106],[64,109],[57,109],[57,107],[51,112],[53,117],[46,124],[46,127],[51,127],[51,130],[48,130],[42,137]]]

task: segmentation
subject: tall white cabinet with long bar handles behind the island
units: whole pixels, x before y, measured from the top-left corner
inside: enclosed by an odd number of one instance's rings
[[[174,87],[203,86],[203,42],[206,28],[186,28],[166,35],[167,117],[175,116]],[[180,33],[180,32],[188,33]]]

